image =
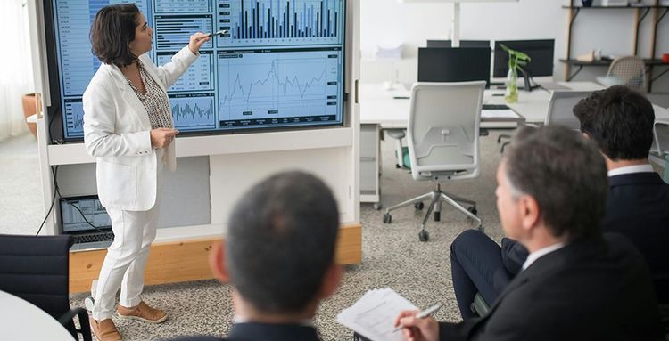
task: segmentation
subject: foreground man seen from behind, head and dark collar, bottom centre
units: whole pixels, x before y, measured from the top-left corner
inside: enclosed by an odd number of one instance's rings
[[[253,185],[232,211],[225,245],[211,250],[212,271],[234,287],[227,340],[318,340],[318,303],[342,279],[338,231],[335,198],[315,176],[282,173]]]

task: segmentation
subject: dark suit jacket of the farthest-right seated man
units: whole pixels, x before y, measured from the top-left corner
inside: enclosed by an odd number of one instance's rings
[[[659,302],[669,304],[669,184],[657,173],[608,178],[602,228],[632,240],[653,276]]]

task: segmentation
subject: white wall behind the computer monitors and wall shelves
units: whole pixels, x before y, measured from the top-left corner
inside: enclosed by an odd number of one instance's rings
[[[578,0],[576,0],[578,1]],[[644,0],[650,1],[653,0]],[[401,4],[396,0],[360,0],[360,48],[364,59],[363,81],[378,82],[392,78],[393,67],[399,69],[402,82],[416,80],[417,48],[427,39],[450,37],[452,4]],[[595,4],[598,0],[595,0]],[[541,39],[554,38],[555,78],[565,77],[568,10],[567,0],[519,0],[517,3],[461,4],[461,39]],[[572,56],[595,48],[604,54],[632,54],[635,10],[584,10],[574,22]],[[640,56],[650,54],[652,13],[640,28]],[[376,46],[405,44],[403,58],[395,62],[373,59]],[[669,15],[657,29],[657,57],[669,53]],[[666,68],[666,67],[665,67]],[[659,68],[657,71],[661,70]],[[607,68],[584,69],[574,80],[592,80],[605,74]],[[669,92],[669,74],[658,79],[654,92]]]

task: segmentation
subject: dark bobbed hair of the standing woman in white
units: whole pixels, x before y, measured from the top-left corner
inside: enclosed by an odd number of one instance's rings
[[[93,53],[105,64],[124,67],[136,61],[129,44],[135,40],[139,9],[135,4],[104,6],[95,14],[91,26]]]

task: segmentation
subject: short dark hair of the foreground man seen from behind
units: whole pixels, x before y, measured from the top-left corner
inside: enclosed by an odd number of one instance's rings
[[[298,313],[335,262],[339,211],[316,176],[286,172],[246,192],[226,238],[230,280],[263,313]]]

